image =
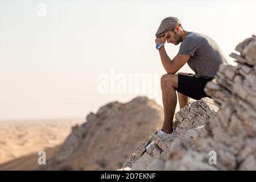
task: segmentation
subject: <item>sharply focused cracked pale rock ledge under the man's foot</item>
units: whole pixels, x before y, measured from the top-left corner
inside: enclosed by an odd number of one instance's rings
[[[155,131],[155,133],[149,135],[148,139],[137,148],[136,153],[131,155],[130,159],[126,160],[122,168],[132,167],[139,158],[141,158],[139,161],[143,161],[142,163],[149,162],[149,159],[160,155],[163,151],[171,150],[177,144],[189,145],[191,140],[200,133],[205,123],[209,121],[209,118],[217,110],[218,107],[208,97],[202,98],[199,101],[189,102],[187,106],[183,107],[175,115],[174,126],[176,129],[174,136],[169,137],[168,134],[156,135],[157,131]],[[154,140],[155,144],[146,150],[147,144],[152,140]],[[141,152],[141,147],[143,147],[143,152]],[[134,168],[137,169],[136,166]]]

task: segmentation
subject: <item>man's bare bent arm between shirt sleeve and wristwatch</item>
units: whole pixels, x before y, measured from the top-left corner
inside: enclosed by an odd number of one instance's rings
[[[180,55],[177,54],[174,59],[170,59],[170,57],[166,53],[166,49],[164,46],[159,49],[160,58],[163,64],[164,69],[168,74],[175,74],[187,61],[190,59],[191,55]]]

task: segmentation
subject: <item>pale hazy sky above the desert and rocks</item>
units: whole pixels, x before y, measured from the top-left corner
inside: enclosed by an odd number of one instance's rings
[[[255,7],[255,1],[0,0],[0,119],[84,118],[138,95],[162,105],[160,94],[101,93],[98,78],[111,82],[113,70],[119,81],[166,73],[155,32],[167,16],[210,36],[228,56],[255,34]],[[179,46],[166,46],[171,59]],[[180,72],[192,71],[186,64]],[[159,80],[149,79],[159,93]]]

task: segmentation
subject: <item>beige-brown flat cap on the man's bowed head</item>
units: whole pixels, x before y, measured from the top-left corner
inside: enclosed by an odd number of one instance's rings
[[[155,36],[156,37],[164,36],[166,32],[174,29],[175,26],[179,24],[180,24],[179,19],[175,17],[170,16],[170,17],[164,18],[158,28],[158,31],[156,31]]]

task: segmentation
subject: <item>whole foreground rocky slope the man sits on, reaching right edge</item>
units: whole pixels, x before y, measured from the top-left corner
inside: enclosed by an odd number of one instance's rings
[[[256,170],[256,37],[236,51],[230,56],[237,66],[221,65],[205,88],[213,101],[202,98],[181,109],[175,135],[151,134],[122,170]]]

